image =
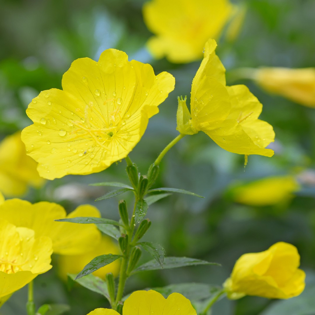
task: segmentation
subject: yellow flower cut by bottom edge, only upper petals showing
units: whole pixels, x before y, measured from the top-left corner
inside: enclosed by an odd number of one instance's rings
[[[180,293],[172,293],[167,299],[160,293],[135,291],[126,299],[123,305],[123,315],[197,315],[192,304]],[[88,315],[117,315],[116,311],[98,308]]]

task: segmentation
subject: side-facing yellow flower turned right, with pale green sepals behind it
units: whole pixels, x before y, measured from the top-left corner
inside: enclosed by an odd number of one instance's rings
[[[215,40],[209,39],[192,81],[191,113],[186,99],[179,99],[177,130],[187,135],[203,131],[229,152],[271,157],[274,152],[265,148],[274,141],[274,131],[258,119],[262,104],[245,85],[226,86],[225,68],[215,48]]]

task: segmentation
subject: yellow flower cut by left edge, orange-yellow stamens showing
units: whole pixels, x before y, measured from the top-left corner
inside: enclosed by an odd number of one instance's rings
[[[31,229],[0,219],[0,298],[5,297],[2,302],[52,267],[51,240],[45,236],[35,238],[34,234]]]

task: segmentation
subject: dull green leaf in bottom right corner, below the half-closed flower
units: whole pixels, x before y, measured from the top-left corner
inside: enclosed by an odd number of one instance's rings
[[[301,295],[289,300],[275,301],[260,315],[314,315],[314,296],[315,283],[308,283]]]

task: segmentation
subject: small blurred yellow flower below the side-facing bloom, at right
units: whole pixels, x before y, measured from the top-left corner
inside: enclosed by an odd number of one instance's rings
[[[279,204],[294,197],[300,185],[294,176],[272,176],[231,188],[232,198],[250,206]]]

